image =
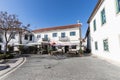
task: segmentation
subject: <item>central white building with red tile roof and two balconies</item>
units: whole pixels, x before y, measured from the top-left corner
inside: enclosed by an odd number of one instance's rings
[[[50,43],[55,46],[72,46],[80,48],[80,27],[81,24],[57,26],[34,30],[35,42]]]

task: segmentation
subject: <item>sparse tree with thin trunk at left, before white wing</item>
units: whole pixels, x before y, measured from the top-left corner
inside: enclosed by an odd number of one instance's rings
[[[7,46],[13,36],[21,28],[21,22],[16,15],[8,14],[7,12],[0,12],[0,30],[5,39],[4,53],[7,52]]]

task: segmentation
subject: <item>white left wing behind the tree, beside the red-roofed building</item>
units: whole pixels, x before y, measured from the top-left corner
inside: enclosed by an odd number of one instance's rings
[[[10,34],[8,33],[7,34],[7,38],[10,36]],[[22,34],[22,44],[25,45],[25,44],[28,44],[30,42],[34,42],[34,35],[32,33],[27,33],[26,31]],[[11,46],[15,46],[15,45],[19,45],[19,33],[18,32],[15,32],[13,33],[12,37],[11,37],[11,40],[10,42],[8,43],[8,45],[11,45]],[[5,43],[6,43],[6,40],[5,40],[5,36],[4,34],[1,32],[0,33],[0,51],[4,51],[4,47],[5,47]],[[15,47],[16,49],[16,47]]]

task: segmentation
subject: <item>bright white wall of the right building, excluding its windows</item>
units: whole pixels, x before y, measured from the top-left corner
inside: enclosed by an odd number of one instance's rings
[[[116,0],[105,0],[100,9],[90,22],[92,53],[120,61],[120,13],[116,13]],[[101,25],[101,11],[105,8],[106,23]],[[93,21],[96,19],[96,31],[93,29]],[[103,40],[108,39],[109,51],[104,51]],[[98,50],[95,50],[95,41],[98,42]]]

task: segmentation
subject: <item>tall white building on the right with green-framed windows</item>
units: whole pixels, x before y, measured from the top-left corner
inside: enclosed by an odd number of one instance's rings
[[[120,61],[120,0],[99,0],[88,24],[92,53]]]

